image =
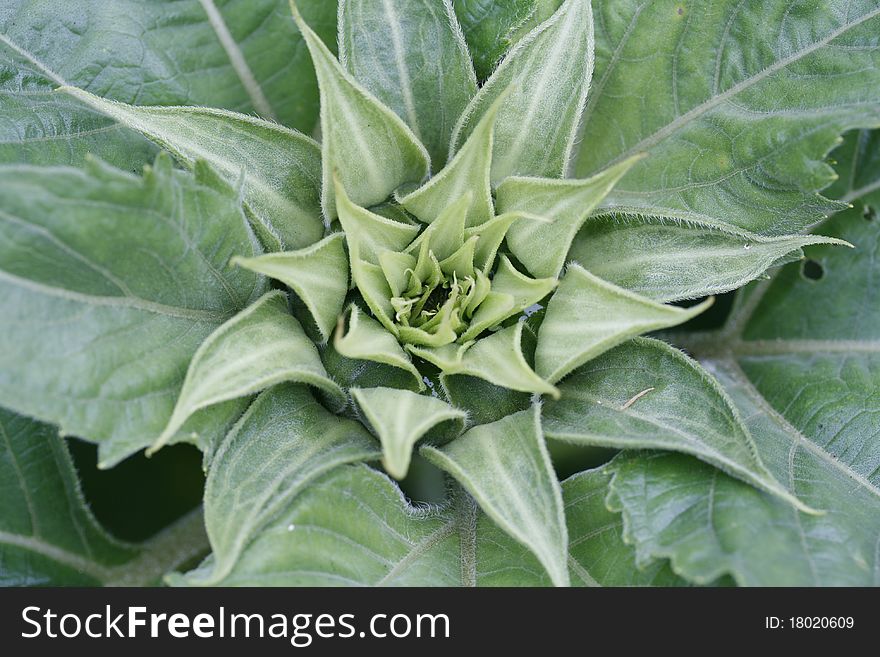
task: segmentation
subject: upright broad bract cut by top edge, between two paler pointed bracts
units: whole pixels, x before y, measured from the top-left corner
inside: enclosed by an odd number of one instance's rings
[[[406,121],[434,169],[477,79],[450,0],[340,0],[339,61]],[[438,102],[440,99],[440,102]]]

